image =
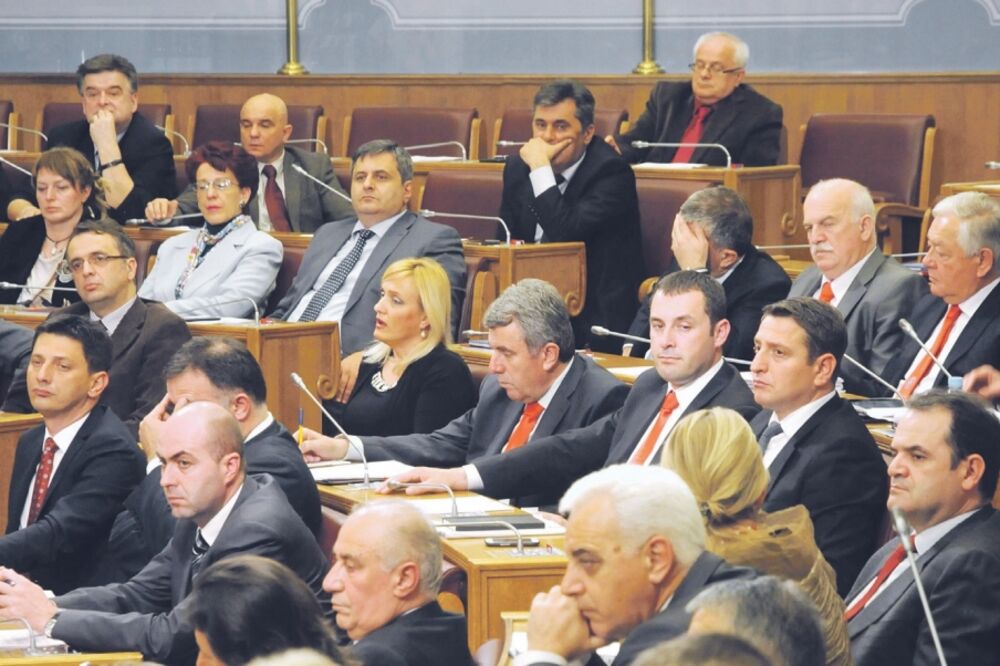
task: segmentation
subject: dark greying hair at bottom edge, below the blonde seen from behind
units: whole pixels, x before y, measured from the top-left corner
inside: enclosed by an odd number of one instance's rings
[[[685,610],[715,611],[729,632],[749,641],[783,666],[823,666],[826,642],[819,611],[790,580],[761,576],[730,580],[703,590]]]

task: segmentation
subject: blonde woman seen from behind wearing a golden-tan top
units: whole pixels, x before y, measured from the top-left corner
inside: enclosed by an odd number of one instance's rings
[[[794,580],[823,619],[826,663],[852,662],[833,568],[816,546],[809,511],[796,505],[766,513],[769,482],[750,426],[714,407],[681,419],[664,446],[663,466],[691,488],[707,532],[706,547],[731,564]]]

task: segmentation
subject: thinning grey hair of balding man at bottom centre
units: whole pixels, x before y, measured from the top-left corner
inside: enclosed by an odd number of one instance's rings
[[[376,549],[382,568],[392,571],[403,562],[415,562],[420,569],[420,592],[436,597],[441,588],[441,538],[427,516],[403,500],[368,502],[351,513],[352,518],[368,516],[386,535]]]

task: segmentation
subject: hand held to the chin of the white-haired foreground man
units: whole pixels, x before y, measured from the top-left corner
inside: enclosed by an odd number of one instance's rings
[[[580,614],[576,599],[563,594],[558,585],[535,595],[528,617],[529,650],[552,652],[571,660],[606,642],[590,635],[590,626]]]

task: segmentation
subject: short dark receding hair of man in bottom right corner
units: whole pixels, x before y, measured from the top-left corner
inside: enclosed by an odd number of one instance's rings
[[[989,405],[967,393],[949,393],[934,389],[919,393],[907,401],[906,407],[918,412],[945,409],[951,415],[948,445],[951,447],[951,468],[973,453],[983,457],[983,478],[979,494],[985,500],[993,498],[1000,475],[1000,421]]]

